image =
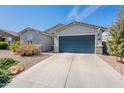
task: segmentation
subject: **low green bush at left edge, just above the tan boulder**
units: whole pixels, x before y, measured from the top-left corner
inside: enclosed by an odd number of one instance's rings
[[[1,69],[8,69],[11,66],[14,66],[14,65],[16,65],[18,63],[19,63],[19,61],[14,60],[12,58],[1,58],[0,59],[0,68]]]

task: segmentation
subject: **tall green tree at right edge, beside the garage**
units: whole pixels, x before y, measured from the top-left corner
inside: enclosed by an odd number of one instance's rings
[[[124,57],[124,19],[123,12],[119,10],[118,20],[112,24],[109,29],[110,40],[108,40],[108,52],[110,55],[120,57],[123,61]],[[118,61],[118,60],[117,60]]]

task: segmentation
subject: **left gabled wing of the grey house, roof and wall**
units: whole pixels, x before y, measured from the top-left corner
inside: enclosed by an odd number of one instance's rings
[[[19,32],[21,43],[34,43],[42,46],[42,51],[50,51],[53,47],[53,37],[34,28],[26,28]]]

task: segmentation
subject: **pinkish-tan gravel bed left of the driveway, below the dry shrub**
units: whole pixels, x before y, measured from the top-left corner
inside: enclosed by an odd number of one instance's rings
[[[25,70],[29,69],[30,67],[32,67],[33,65],[39,63],[40,61],[50,57],[51,55],[48,54],[41,54],[38,56],[19,56],[19,55],[15,55],[12,51],[9,50],[0,50],[0,58],[4,58],[4,57],[9,57],[9,58],[13,58],[15,60],[20,61],[24,67]]]

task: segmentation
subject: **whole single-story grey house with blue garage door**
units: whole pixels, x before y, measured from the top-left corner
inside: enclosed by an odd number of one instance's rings
[[[20,32],[21,42],[41,44],[44,51],[102,54],[102,32],[107,28],[82,22],[58,24],[44,32],[27,28]]]

